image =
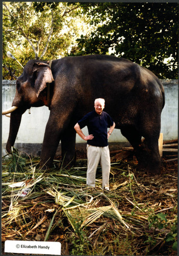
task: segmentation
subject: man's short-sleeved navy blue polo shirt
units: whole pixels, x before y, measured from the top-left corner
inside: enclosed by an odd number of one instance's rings
[[[87,126],[89,135],[94,136],[92,140],[87,141],[87,144],[92,146],[108,146],[108,127],[113,123],[108,113],[103,111],[101,115],[98,115],[95,110],[78,121],[81,129]]]

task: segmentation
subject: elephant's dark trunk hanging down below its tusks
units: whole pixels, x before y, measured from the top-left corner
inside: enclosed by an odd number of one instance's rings
[[[21,122],[21,117],[22,117],[22,114],[25,112],[25,110],[15,111],[15,112],[11,113],[9,138],[8,138],[8,142],[6,144],[6,150],[8,153],[11,152],[11,147],[15,143],[16,136],[17,136],[17,133],[19,130],[20,122]]]

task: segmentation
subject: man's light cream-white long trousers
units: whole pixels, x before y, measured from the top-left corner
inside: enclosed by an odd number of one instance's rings
[[[103,183],[102,188],[109,188],[109,175],[110,175],[110,152],[109,146],[99,147],[87,144],[87,185],[95,186],[96,169],[100,163],[102,169]]]

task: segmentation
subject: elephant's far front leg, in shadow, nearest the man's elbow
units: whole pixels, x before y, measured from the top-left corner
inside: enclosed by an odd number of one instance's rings
[[[74,165],[76,160],[75,154],[75,139],[76,131],[74,125],[68,126],[61,136],[61,148],[62,148],[62,166],[70,168]]]

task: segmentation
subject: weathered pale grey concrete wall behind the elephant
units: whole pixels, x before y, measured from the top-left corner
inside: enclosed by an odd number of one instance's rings
[[[164,140],[177,139],[177,117],[178,117],[178,81],[177,80],[162,80],[165,89],[166,103],[162,112],[161,133],[164,135]],[[3,80],[2,88],[2,109],[10,108],[13,98],[15,96],[15,81]],[[40,154],[41,144],[43,142],[43,135],[45,126],[49,117],[49,110],[46,106],[41,108],[31,108],[31,114],[27,110],[22,115],[22,120],[19,132],[16,138],[17,148],[27,153],[34,155]],[[2,155],[6,154],[5,145],[9,135],[10,118],[2,117]],[[87,128],[83,129],[87,135]],[[110,144],[118,149],[122,145],[129,144],[127,140],[121,135],[120,130],[114,130],[109,139]],[[78,145],[84,147],[86,142],[76,135],[76,147]],[[36,147],[35,147],[36,145]],[[60,149],[59,149],[60,150]],[[59,153],[60,154],[60,153]]]

